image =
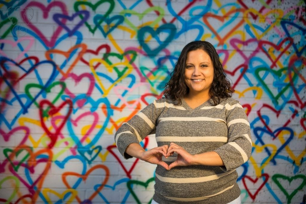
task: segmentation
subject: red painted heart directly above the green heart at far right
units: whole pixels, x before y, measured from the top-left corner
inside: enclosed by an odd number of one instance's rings
[[[282,67],[283,63],[280,62],[280,58],[284,55],[284,53],[291,47],[293,44],[292,38],[283,39],[278,45],[266,40],[259,41],[259,48],[267,55],[267,57],[271,60],[272,64],[270,68]],[[267,47],[270,46],[270,47]],[[275,50],[279,51],[278,56],[274,55]]]

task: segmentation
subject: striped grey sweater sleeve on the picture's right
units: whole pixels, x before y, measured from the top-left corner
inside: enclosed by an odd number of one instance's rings
[[[228,128],[228,141],[215,150],[224,165],[224,171],[236,169],[251,157],[252,138],[251,128],[243,107],[236,100],[226,104],[226,125]]]

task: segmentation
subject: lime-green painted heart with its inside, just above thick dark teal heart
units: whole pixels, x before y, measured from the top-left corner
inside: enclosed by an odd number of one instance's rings
[[[152,13],[153,11],[155,11],[156,14],[158,13],[156,15],[157,17],[154,20],[152,20],[151,19],[152,16],[149,16],[148,19],[150,19],[150,21],[143,22],[142,19],[147,17],[147,15]],[[142,13],[138,13],[137,11],[132,10],[132,9],[125,9],[125,10],[122,10],[119,14],[124,17],[125,24],[127,24],[129,28],[137,32],[139,28],[144,27],[144,26],[151,26],[152,28],[154,28],[155,25],[158,24],[164,17],[165,10],[159,6],[152,6],[144,10],[144,12]],[[138,18],[139,21],[137,22],[142,22],[142,23],[140,25],[135,25],[136,23],[135,20],[132,20],[132,21],[129,20],[129,17],[133,18],[133,16],[136,16]],[[131,38],[132,37],[133,36],[131,36]]]

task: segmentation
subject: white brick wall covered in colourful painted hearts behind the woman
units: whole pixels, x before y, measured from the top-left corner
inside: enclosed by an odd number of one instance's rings
[[[114,133],[207,40],[251,124],[242,202],[305,203],[305,4],[1,0],[0,202],[151,202],[155,165],[124,160]]]

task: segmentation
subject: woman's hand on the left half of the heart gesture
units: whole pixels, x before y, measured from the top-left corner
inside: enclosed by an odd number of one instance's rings
[[[140,159],[143,161],[147,161],[151,164],[161,165],[162,167],[168,170],[168,164],[162,161],[162,156],[167,157],[166,154],[168,147],[168,145],[163,145],[160,147],[155,147],[151,150],[144,151],[140,155]]]

